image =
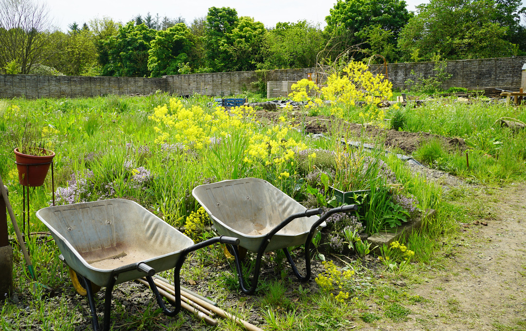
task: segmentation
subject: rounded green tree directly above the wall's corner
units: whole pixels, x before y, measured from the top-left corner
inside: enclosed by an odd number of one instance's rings
[[[194,36],[184,23],[157,32],[148,51],[148,69],[151,77],[177,75],[178,69],[188,61],[188,53],[194,46]]]

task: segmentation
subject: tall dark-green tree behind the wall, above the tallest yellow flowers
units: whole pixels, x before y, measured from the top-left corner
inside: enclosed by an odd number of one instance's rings
[[[403,0],[338,0],[325,18],[326,32],[335,37],[333,44],[340,43],[339,50],[360,44],[372,50],[371,40],[383,40],[381,48],[386,49],[388,44],[397,44],[402,27],[411,17]],[[379,35],[379,29],[387,34]]]

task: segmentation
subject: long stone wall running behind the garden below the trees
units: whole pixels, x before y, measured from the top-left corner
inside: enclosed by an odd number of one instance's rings
[[[444,82],[443,89],[452,86],[483,88],[505,87],[518,90],[521,86],[522,65],[526,57],[492,58],[478,60],[448,61],[447,71],[452,77]],[[383,68],[372,66],[373,71]],[[411,75],[429,76],[433,73],[432,62],[391,63],[387,65],[389,80],[393,88],[404,88],[404,82]],[[94,97],[107,94],[146,95],[157,90],[170,94],[188,96],[201,94],[207,96],[228,96],[245,90],[255,91],[255,82],[294,81],[307,78],[315,68],[270,70],[264,76],[256,71],[237,71],[234,73],[190,74],[164,76],[163,78],[140,77],[85,77],[85,76],[33,76],[33,75],[0,75],[0,98],[15,97],[34,98],[74,98]],[[321,75],[319,81],[322,81]]]

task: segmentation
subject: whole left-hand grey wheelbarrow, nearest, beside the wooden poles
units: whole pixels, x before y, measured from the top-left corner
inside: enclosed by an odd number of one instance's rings
[[[99,330],[92,282],[106,286],[104,330],[108,330],[112,291],[116,284],[146,276],[163,313],[165,307],[152,276],[174,268],[179,292],[179,272],[186,255],[217,242],[235,244],[235,238],[215,237],[194,242],[134,201],[110,199],[41,209],[37,217],[52,233],[66,264],[84,278],[93,328]]]

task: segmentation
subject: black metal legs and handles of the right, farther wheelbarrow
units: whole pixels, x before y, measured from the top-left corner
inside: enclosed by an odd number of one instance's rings
[[[307,240],[305,241],[305,268],[306,268],[305,276],[302,276],[299,273],[298,268],[296,267],[296,264],[294,263],[294,261],[292,261],[292,256],[290,256],[289,250],[287,248],[283,249],[283,252],[285,253],[285,256],[287,257],[287,261],[289,262],[292,268],[292,271],[294,272],[294,274],[296,275],[296,277],[298,278],[300,282],[306,282],[310,278],[310,274],[311,274],[310,272],[310,243],[312,241],[312,236],[316,232],[316,229],[318,228],[318,226],[321,223],[323,223],[323,221],[327,220],[329,216],[334,213],[348,212],[348,211],[357,210],[357,209],[358,209],[358,206],[356,204],[343,205],[337,208],[333,208],[333,209],[328,210],[325,214],[323,214],[318,219],[318,221],[312,224],[312,226],[310,227],[309,234],[307,235]],[[237,270],[237,275],[239,278],[239,287],[241,288],[241,291],[245,294],[254,294],[254,292],[256,292],[256,287],[258,285],[258,278],[259,278],[259,270],[261,267],[261,258],[263,257],[263,254],[265,253],[265,250],[268,244],[270,243],[272,236],[274,236],[279,230],[283,229],[283,227],[285,227],[287,224],[289,224],[295,219],[302,218],[302,217],[308,217],[312,215],[319,215],[321,213],[322,213],[321,208],[318,208],[318,209],[308,209],[304,212],[292,214],[288,216],[288,218],[286,218],[280,224],[278,224],[276,227],[274,227],[274,229],[272,229],[269,233],[267,233],[267,235],[265,236],[265,240],[261,242],[261,245],[259,246],[259,249],[257,251],[256,266],[254,267],[254,275],[252,276],[250,288],[246,287],[245,280],[243,278],[243,273],[241,270],[241,262],[240,262],[241,259],[239,258],[239,251],[238,251],[237,245],[231,244],[230,246],[232,248],[232,251],[234,252],[236,270]]]

